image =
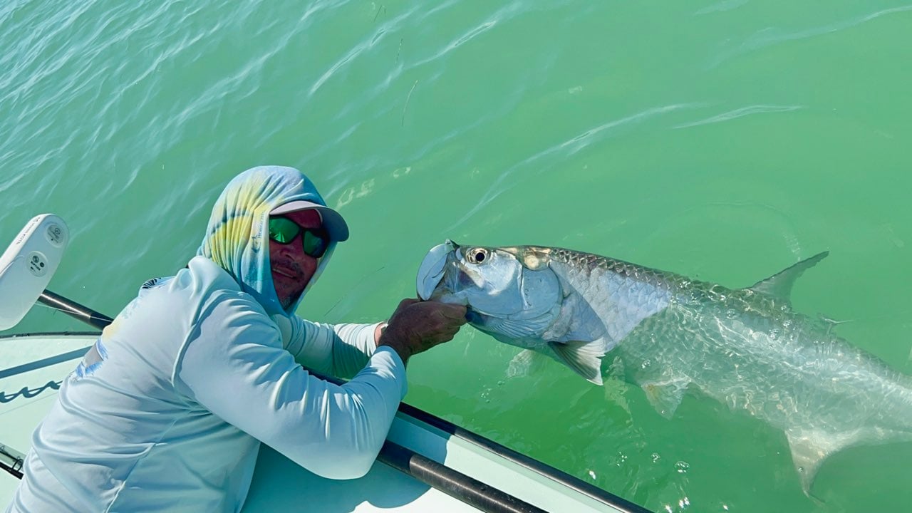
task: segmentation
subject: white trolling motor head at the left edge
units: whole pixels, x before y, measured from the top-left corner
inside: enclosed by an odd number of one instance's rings
[[[16,326],[47,288],[69,243],[69,228],[53,214],[36,215],[0,257],[0,330]]]

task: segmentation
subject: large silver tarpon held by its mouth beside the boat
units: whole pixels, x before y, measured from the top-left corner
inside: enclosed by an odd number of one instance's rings
[[[612,356],[667,417],[696,389],[781,429],[809,493],[828,455],[912,440],[912,378],[792,309],[795,279],[826,255],[731,289],[556,247],[447,241],[424,258],[418,291],[590,382]]]

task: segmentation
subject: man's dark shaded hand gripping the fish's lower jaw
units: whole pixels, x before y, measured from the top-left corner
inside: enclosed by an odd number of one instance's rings
[[[403,362],[421,351],[452,340],[465,324],[465,307],[439,301],[402,299],[380,335],[379,346],[389,346]]]

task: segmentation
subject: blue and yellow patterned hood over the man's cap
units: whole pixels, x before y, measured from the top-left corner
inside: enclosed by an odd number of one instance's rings
[[[314,183],[295,168],[260,166],[237,175],[212,207],[206,236],[197,252],[227,271],[270,316],[295,312],[336,249],[333,241],[304,292],[287,310],[283,309],[269,267],[269,213],[297,200],[326,205]]]

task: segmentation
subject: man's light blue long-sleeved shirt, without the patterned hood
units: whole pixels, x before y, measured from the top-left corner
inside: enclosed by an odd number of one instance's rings
[[[406,392],[376,327],[270,318],[195,257],[143,286],[65,380],[7,511],[239,511],[261,441],[317,475],[363,476]]]

